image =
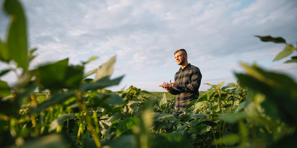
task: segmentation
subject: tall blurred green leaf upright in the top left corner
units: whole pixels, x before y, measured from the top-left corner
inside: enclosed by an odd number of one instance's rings
[[[9,0],[5,1],[4,9],[11,16],[7,38],[10,57],[18,64],[18,67],[26,71],[28,69],[27,27],[23,8],[17,0]]]

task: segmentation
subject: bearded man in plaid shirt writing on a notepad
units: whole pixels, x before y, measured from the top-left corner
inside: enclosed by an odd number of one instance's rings
[[[162,87],[170,94],[176,95],[174,109],[177,111],[173,112],[172,115],[178,117],[182,113],[179,110],[186,108],[192,100],[198,99],[202,75],[198,67],[188,63],[188,55],[185,49],[176,50],[174,56],[176,63],[181,67],[174,75],[174,83],[166,83]],[[181,91],[171,89],[172,86]]]

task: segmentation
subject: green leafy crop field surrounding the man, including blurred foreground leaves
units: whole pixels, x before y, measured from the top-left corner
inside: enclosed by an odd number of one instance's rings
[[[20,74],[15,86],[0,80],[0,147],[296,147],[297,83],[285,74],[241,64],[237,83],[206,83],[209,89],[181,110],[186,114],[174,117],[175,96],[167,92],[105,89],[123,78],[110,78],[116,57],[88,73],[94,57],[29,70],[36,49],[27,47],[23,9],[17,0],[3,9],[18,19],[0,41],[1,62],[15,66],[1,69],[0,78]],[[274,60],[297,51],[280,37],[257,38],[285,45]]]

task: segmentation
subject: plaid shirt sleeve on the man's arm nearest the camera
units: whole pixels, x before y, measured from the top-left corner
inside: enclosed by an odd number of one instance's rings
[[[191,78],[188,79],[188,84],[181,84],[177,85],[177,89],[181,90],[182,92],[190,92],[190,91],[197,91],[200,87],[202,75],[198,67],[192,69]]]

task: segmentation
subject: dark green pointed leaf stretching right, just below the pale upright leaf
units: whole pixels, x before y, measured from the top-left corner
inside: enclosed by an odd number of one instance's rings
[[[113,79],[113,80],[98,80],[95,83],[83,83],[82,84],[82,90],[83,91],[90,91],[95,89],[102,89],[108,86],[118,85],[120,81],[122,80],[124,76],[121,76],[119,78]]]

